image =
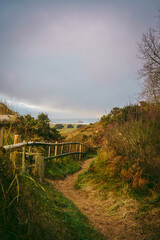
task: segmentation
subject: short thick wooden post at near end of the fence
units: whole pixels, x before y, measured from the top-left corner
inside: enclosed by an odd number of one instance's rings
[[[35,175],[38,175],[41,181],[44,179],[44,156],[39,154],[35,156]]]

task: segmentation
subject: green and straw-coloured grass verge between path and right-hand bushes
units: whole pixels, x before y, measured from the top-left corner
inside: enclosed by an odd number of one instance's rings
[[[142,239],[160,239],[160,197],[153,190],[146,195],[143,191],[134,191],[129,184],[116,176],[115,169],[107,166],[107,159],[113,160],[111,152],[98,154],[88,170],[78,176],[77,189],[94,192],[98,199],[106,203],[106,215],[110,221],[117,221],[117,216],[129,217],[131,236],[134,227],[141,229]],[[136,229],[135,229],[136,230]],[[138,231],[138,230],[137,230]]]

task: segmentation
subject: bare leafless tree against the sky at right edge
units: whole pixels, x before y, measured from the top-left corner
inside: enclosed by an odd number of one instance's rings
[[[138,57],[142,60],[139,71],[143,79],[142,96],[149,101],[160,101],[160,16],[157,28],[143,33],[138,43]]]

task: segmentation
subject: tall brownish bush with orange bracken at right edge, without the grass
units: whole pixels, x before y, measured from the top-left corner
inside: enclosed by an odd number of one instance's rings
[[[129,109],[129,108],[128,108]],[[122,109],[125,112],[126,108]],[[106,126],[109,146],[120,160],[113,161],[122,181],[135,190],[158,188],[160,182],[160,111],[150,105],[138,117]]]

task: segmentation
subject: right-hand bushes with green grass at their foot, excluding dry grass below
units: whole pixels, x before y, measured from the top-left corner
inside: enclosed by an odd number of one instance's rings
[[[107,146],[79,184],[88,178],[106,189],[125,186],[128,192],[159,193],[160,187],[160,106],[141,102],[114,108],[101,118]],[[86,180],[88,181],[88,180]],[[108,187],[108,189],[107,189]]]

